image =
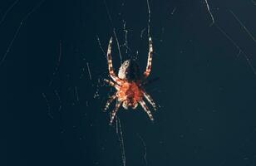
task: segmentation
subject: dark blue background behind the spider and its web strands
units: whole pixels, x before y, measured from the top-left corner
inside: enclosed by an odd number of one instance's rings
[[[13,2],[0,2],[1,17]],[[1,58],[39,2],[20,1],[7,12],[0,24]],[[123,44],[126,20],[131,51],[121,47],[122,56],[139,51],[144,69],[148,39],[140,32],[147,27],[147,3],[106,5],[112,22],[101,0],[46,0],[22,22],[0,66],[0,165],[122,164],[115,126],[102,111],[115,90],[102,83],[108,73],[97,37],[106,51],[115,27]],[[150,78],[160,80],[146,90],[160,108],[153,111],[154,125],[140,108],[119,111],[127,166],[145,165],[140,138],[148,165],[256,165],[256,75],[244,56],[256,67],[256,42],[229,11],[256,35],[256,6],[249,0],[209,0],[209,7],[211,27],[203,0],[150,2],[155,49]],[[117,71],[116,43],[113,59]]]

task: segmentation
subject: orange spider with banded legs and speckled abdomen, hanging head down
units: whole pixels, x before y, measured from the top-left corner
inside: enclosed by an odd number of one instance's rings
[[[145,104],[143,97],[149,101],[150,105],[153,106],[154,110],[156,110],[156,105],[154,100],[151,98],[149,94],[146,93],[143,85],[145,85],[146,79],[150,76],[151,71],[151,63],[152,63],[152,56],[153,56],[153,42],[151,37],[149,37],[149,55],[147,66],[143,76],[140,75],[140,68],[139,65],[136,63],[135,60],[126,60],[121,64],[121,67],[118,71],[118,76],[113,69],[112,65],[112,56],[111,56],[111,46],[112,46],[112,37],[108,45],[107,49],[107,61],[108,61],[108,71],[111,76],[111,80],[104,80],[109,85],[116,88],[116,94],[112,95],[109,100],[106,102],[106,107],[104,110],[109,108],[111,102],[116,100],[116,108],[111,112],[111,120],[110,125],[112,124],[113,120],[115,119],[116,112],[119,110],[120,106],[122,105],[123,108],[126,110],[131,107],[133,110],[138,106],[141,105],[143,110],[147,113],[150,117],[150,120],[154,121],[153,116],[151,115],[150,109]]]

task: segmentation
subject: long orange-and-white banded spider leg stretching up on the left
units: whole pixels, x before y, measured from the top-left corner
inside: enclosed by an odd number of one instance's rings
[[[114,68],[113,68],[113,63],[112,63],[112,56],[111,56],[111,47],[112,47],[112,37],[111,40],[108,44],[108,48],[107,48],[107,63],[108,63],[108,71],[110,72],[110,76],[113,79],[113,81],[115,81],[117,84],[120,84],[121,80],[116,76],[115,72],[114,72]]]

